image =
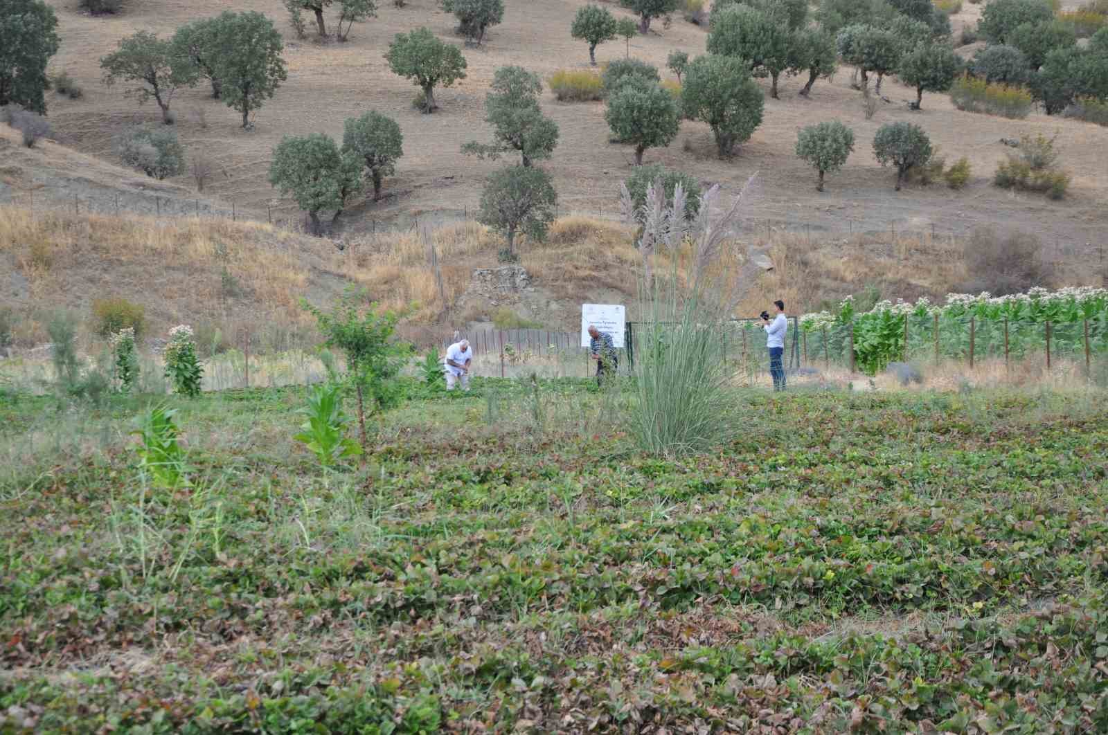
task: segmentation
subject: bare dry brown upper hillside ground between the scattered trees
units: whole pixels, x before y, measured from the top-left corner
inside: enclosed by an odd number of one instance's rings
[[[583,2],[507,0],[503,24],[489,31],[482,46],[463,49],[468,79],[438,93],[441,112],[421,115],[411,107],[416,87],[393,75],[382,54],[393,34],[421,24],[461,44],[453,31],[454,19],[439,10],[437,0],[413,0],[402,9],[380,3],[379,18],[355,25],[347,43],[296,39],[277,0],[244,0],[236,9],[268,13],[285,34],[288,81],[260,110],[254,132],[242,131],[234,112],[211,100],[201,87],[174,99],[177,126],[189,151],[203,149],[218,161],[220,174],[212,184],[217,196],[256,218],[265,218],[267,205],[276,204],[275,216],[296,219],[293,203],[275,200],[276,193],[266,180],[273,146],[290,133],[322,131],[340,136],[346,117],[377,110],[400,123],[406,155],[397,176],[387,182],[388,198],[378,205],[353,207],[345,226],[372,231],[381,219],[407,225],[413,216],[432,213],[433,221],[458,218],[476,205],[482,178],[499,165],[478,162],[459,151],[462,143],[488,136],[483,99],[494,70],[522,64],[548,76],[558,68],[585,68],[587,50],[568,33],[573,14]],[[140,107],[119,89],[103,86],[95,60],[135,30],[168,35],[188,20],[225,8],[216,0],[125,2],[121,14],[92,18],[79,12],[74,3],[52,4],[62,37],[52,66],[68,71],[85,90],[85,96],[78,101],[51,95],[50,116],[58,139],[105,158],[113,156],[112,136],[119,130],[154,120],[156,108]],[[977,14],[979,6],[966,3],[954,18],[955,33]],[[649,35],[632,40],[632,55],[664,68],[670,50],[704,51],[705,31],[679,15],[669,28],[657,25]],[[602,62],[618,58],[624,54],[624,44],[606,43],[597,53]],[[841,69],[832,82],[819,82],[810,100],[797,95],[797,79],[782,80],[781,100],[767,100],[762,126],[731,161],[717,159],[707,127],[688,122],[668,148],[649,151],[647,161],[681,168],[725,187],[760,172],[759,193],[750,203],[751,229],[765,226],[767,219],[772,228],[792,231],[807,231],[810,225],[820,237],[891,227],[961,234],[976,225],[997,224],[1036,232],[1046,241],[1074,244],[1079,251],[1085,244],[1101,239],[1108,222],[1102,207],[1108,196],[1104,175],[1108,170],[1108,128],[1040,114],[1008,121],[958,112],[942,94],[926,95],[924,111],[912,112],[906,102],[913,93],[893,81],[883,87],[890,103],[868,121],[858,92],[850,89],[850,76],[849,68]],[[618,182],[628,173],[632,156],[625,146],[608,143],[603,103],[557,103],[547,94],[544,104],[561,126],[561,144],[544,165],[555,178],[563,211],[611,217]],[[858,145],[843,172],[829,180],[827,193],[818,194],[811,170],[794,156],[792,147],[799,126],[831,118],[854,127]],[[948,159],[966,156],[974,167],[970,186],[961,193],[942,186],[913,186],[894,193],[892,175],[876,164],[870,149],[876,127],[891,121],[922,125]],[[1058,133],[1061,164],[1073,174],[1071,194],[1065,201],[1013,195],[989,183],[1007,151],[999,138],[1039,132]],[[182,178],[181,183],[188,182]]]

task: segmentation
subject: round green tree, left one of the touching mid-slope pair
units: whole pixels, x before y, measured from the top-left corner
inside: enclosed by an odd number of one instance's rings
[[[269,183],[308,213],[312,232],[319,235],[319,213],[334,209],[338,217],[349,198],[361,190],[363,161],[353,151],[339,151],[324,133],[286,135],[274,148]]]

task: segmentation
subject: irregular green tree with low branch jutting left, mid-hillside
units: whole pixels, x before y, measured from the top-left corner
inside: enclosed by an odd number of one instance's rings
[[[550,158],[557,145],[557,123],[543,115],[538,95],[543,84],[538,75],[522,66],[501,66],[485,96],[485,122],[493,126],[493,143],[466,143],[462,153],[496,161],[509,151],[522,156],[522,164]]]

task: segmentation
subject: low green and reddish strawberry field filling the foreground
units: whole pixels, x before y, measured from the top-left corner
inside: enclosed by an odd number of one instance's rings
[[[0,732],[1108,731],[1108,401],[771,396],[649,457],[629,394],[0,396]],[[365,459],[365,462],[361,462]]]

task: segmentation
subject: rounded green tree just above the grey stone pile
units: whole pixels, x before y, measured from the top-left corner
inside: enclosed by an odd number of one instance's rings
[[[485,182],[478,221],[503,235],[512,253],[519,232],[536,242],[546,238],[556,206],[557,191],[550,174],[542,168],[510,166]]]

